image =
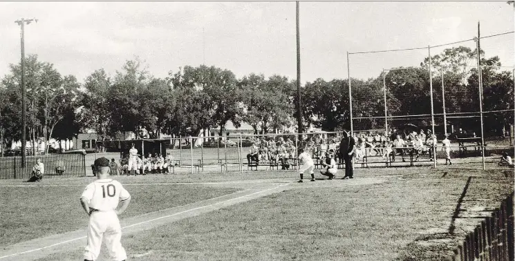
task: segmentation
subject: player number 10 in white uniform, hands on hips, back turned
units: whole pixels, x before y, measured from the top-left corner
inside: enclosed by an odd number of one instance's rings
[[[97,260],[100,254],[102,238],[113,260],[127,259],[127,253],[122,247],[122,228],[118,215],[123,213],[131,195],[122,184],[109,178],[109,160],[100,157],[95,160],[97,180],[86,186],[80,197],[82,208],[89,215],[88,244],[84,252],[84,261]],[[118,203],[121,202],[117,210]]]

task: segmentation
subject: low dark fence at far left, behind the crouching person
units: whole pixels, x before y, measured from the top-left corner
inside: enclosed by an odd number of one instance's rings
[[[0,158],[0,180],[27,179],[37,158],[45,166],[44,178],[85,177],[86,158],[82,154],[48,154],[26,157],[26,168],[21,168],[21,156]],[[59,168],[58,168],[59,167]],[[62,171],[57,171],[60,169]]]

